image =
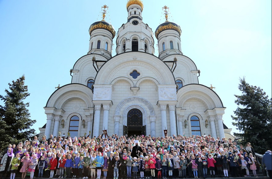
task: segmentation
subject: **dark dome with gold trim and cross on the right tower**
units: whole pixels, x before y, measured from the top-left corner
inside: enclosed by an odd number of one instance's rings
[[[160,32],[165,31],[165,30],[174,30],[177,31],[179,33],[179,35],[181,35],[181,27],[179,25],[177,25],[174,22],[169,22],[168,21],[168,11],[167,9],[169,9],[167,6],[163,7],[164,9],[164,15],[165,15],[165,22],[160,24],[155,31],[155,36],[156,39],[158,39],[158,35],[160,34]]]

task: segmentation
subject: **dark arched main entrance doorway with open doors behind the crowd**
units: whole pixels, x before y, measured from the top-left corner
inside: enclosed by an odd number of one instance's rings
[[[146,128],[143,125],[143,114],[139,109],[133,108],[128,111],[127,125],[124,125],[124,135],[145,135]]]

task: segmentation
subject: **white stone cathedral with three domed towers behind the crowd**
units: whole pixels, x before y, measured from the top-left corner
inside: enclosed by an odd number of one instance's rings
[[[103,19],[91,24],[87,55],[71,69],[70,84],[48,99],[47,122],[40,134],[71,137],[102,135],[208,135],[225,137],[225,107],[200,71],[181,52],[181,28],[166,21],[155,31],[143,22],[143,3],[127,2],[128,20],[115,32]],[[116,36],[116,55],[112,39]]]

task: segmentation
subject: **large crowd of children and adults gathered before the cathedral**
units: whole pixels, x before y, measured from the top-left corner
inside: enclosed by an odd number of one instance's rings
[[[136,153],[133,147],[137,144]],[[138,144],[140,149],[138,148]],[[206,178],[257,176],[258,162],[247,143],[206,136],[53,137],[9,145],[0,165],[2,177],[49,178]],[[103,171],[103,173],[102,173]]]

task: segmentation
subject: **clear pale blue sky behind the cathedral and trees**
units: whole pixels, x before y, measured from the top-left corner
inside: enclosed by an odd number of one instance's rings
[[[106,21],[116,31],[127,22],[126,0],[15,1],[0,0],[0,94],[8,83],[26,76],[31,118],[36,132],[46,123],[43,107],[55,87],[71,83],[69,70],[89,47],[89,26],[101,20],[101,6],[109,9]],[[239,78],[259,86],[271,97],[271,1],[143,0],[143,22],[153,30],[169,21],[181,26],[181,49],[201,70],[199,83],[215,91],[226,107],[224,123],[237,108],[234,94]],[[155,43],[157,42],[156,39]],[[113,40],[116,43],[116,38]],[[113,47],[113,55],[115,55]],[[158,55],[155,47],[155,55]],[[1,102],[2,104],[2,102]]]

